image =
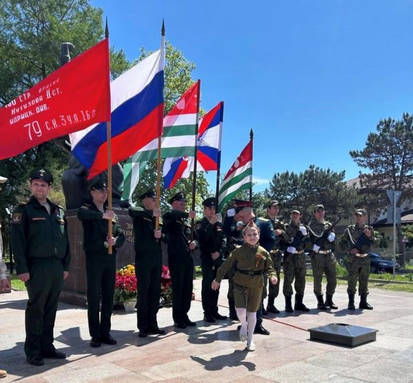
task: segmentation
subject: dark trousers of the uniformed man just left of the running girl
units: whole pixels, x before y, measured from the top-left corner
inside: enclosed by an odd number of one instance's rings
[[[205,315],[215,315],[218,313],[218,297],[220,294],[218,290],[212,290],[212,281],[217,276],[218,265],[213,267],[213,263],[210,259],[206,260],[204,256],[201,256],[201,267],[202,267],[202,308],[204,309]]]

